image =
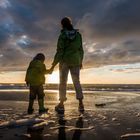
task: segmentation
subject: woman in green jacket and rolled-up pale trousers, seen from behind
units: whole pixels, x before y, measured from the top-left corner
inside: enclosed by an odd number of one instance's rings
[[[60,103],[55,107],[56,111],[64,111],[64,101],[66,101],[66,86],[68,72],[70,71],[73,84],[76,90],[76,98],[79,100],[79,111],[84,111],[83,92],[79,81],[80,69],[83,61],[82,37],[78,30],[73,28],[71,19],[64,17],[61,20],[62,30],[57,42],[57,51],[52,63],[51,72],[59,63],[60,84],[59,100]]]

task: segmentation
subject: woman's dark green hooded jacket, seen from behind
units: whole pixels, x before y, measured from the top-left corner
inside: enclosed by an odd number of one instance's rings
[[[57,51],[52,65],[66,63],[69,66],[80,66],[82,65],[83,55],[82,36],[78,30],[68,31],[63,29],[58,38]]]

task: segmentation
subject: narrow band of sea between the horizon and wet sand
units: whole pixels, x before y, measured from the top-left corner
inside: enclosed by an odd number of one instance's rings
[[[45,84],[44,90],[49,92],[57,92],[59,88],[59,84]],[[113,91],[113,92],[136,92],[140,91],[140,84],[82,84],[83,92],[92,93],[92,91]],[[24,83],[2,83],[0,84],[0,92],[6,91],[20,91],[25,92],[28,91],[29,87],[27,87]],[[73,92],[74,86],[73,84],[67,85],[67,91]]]

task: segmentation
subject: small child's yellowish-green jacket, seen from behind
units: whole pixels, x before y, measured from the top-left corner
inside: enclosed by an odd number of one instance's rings
[[[46,66],[40,60],[32,60],[26,72],[25,81],[31,86],[45,83]]]

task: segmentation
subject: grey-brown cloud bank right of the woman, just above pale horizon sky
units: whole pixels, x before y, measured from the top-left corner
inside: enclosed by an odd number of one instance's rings
[[[98,43],[92,52],[89,51],[91,46],[88,44],[85,49],[87,55],[85,63],[93,67],[138,63],[140,61],[139,44],[139,40],[104,43],[104,45]]]

